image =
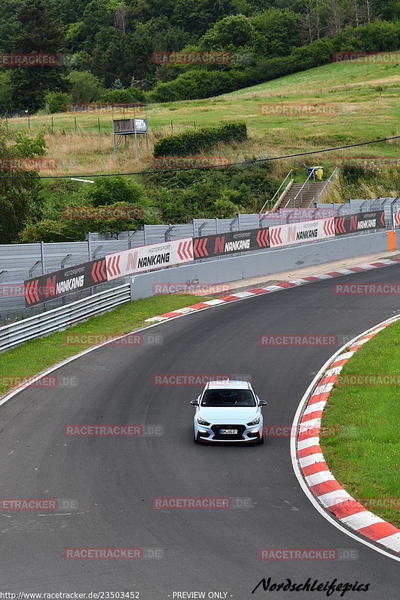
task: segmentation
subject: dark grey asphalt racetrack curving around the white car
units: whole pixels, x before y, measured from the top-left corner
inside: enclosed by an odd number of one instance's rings
[[[75,499],[78,508],[2,511],[2,592],[139,592],[140,600],[326,598],[252,590],[265,577],[369,584],[344,598],[397,600],[399,562],[345,535],[312,506],[290,438],[193,443],[201,387],[156,374],[248,374],[264,426],[287,426],[309,383],[347,340],[399,312],[395,295],[337,295],[336,283],[398,283],[400,265],[255,296],[157,325],[163,344],[104,346],[58,368],[78,385],[26,388],[0,407],[0,496]],[[110,314],[110,319],[112,319]],[[338,345],[263,347],[261,334],[330,334]],[[69,424],[161,425],[162,436],[68,437]],[[251,498],[237,509],[155,509],[160,497]],[[65,548],[157,549],[161,558],[67,560]],[[356,550],[356,560],[260,560],[262,548]],[[148,556],[146,554],[146,556]],[[18,597],[18,596],[17,596]],[[197,596],[199,597],[199,596]],[[341,598],[340,592],[329,596]],[[104,596],[106,598],[106,596]]]

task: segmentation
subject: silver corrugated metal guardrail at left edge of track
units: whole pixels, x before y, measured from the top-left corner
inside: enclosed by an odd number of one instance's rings
[[[88,298],[71,302],[59,308],[53,308],[45,313],[29,319],[10,323],[0,328],[0,352],[8,350],[24,341],[47,335],[80,321],[104,313],[124,302],[130,302],[130,284],[114,287],[106,292],[100,292]]]

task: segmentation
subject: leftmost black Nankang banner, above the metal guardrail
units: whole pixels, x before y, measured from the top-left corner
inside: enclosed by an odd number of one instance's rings
[[[107,281],[106,259],[91,260],[24,281],[25,306],[48,302]]]

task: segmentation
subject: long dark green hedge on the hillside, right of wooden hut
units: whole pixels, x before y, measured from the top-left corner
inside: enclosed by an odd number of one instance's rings
[[[163,137],[154,145],[154,156],[189,156],[220,143],[242,142],[245,139],[246,125],[232,121],[220,127],[200,127],[194,131]]]

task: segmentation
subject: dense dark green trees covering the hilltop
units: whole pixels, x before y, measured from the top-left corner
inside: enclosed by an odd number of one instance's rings
[[[206,98],[400,47],[396,0],[3,0],[0,53],[57,53],[55,67],[0,67],[0,114],[93,101]],[[176,64],[168,52],[227,52]],[[161,55],[162,60],[157,58]]]

